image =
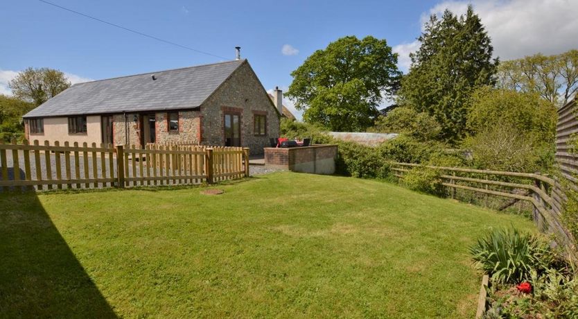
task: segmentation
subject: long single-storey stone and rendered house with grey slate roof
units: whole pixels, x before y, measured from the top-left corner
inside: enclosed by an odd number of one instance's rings
[[[281,101],[237,59],[73,85],[24,115],[25,133],[51,143],[183,142],[258,154],[279,137]]]

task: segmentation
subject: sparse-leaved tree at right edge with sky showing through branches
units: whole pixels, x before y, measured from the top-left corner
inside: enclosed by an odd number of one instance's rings
[[[578,50],[548,56],[538,53],[502,62],[498,87],[535,92],[547,101],[564,105],[578,92]]]

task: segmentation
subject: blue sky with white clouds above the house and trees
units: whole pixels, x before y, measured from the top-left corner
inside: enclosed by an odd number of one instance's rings
[[[500,60],[578,49],[578,0],[46,1],[197,51],[39,0],[0,0],[0,94],[10,94],[8,81],[27,67],[60,69],[79,83],[233,60],[235,46],[265,89],[286,90],[291,71],[345,35],[387,40],[405,73],[423,22],[446,8],[461,14],[468,3]]]

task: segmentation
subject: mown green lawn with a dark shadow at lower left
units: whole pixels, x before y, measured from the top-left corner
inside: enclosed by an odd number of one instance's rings
[[[472,318],[498,214],[374,180],[0,196],[0,317]]]

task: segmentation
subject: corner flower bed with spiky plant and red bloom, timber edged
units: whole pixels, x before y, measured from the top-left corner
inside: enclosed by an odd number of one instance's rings
[[[493,230],[470,252],[489,276],[476,318],[578,318],[576,269],[542,237]]]

